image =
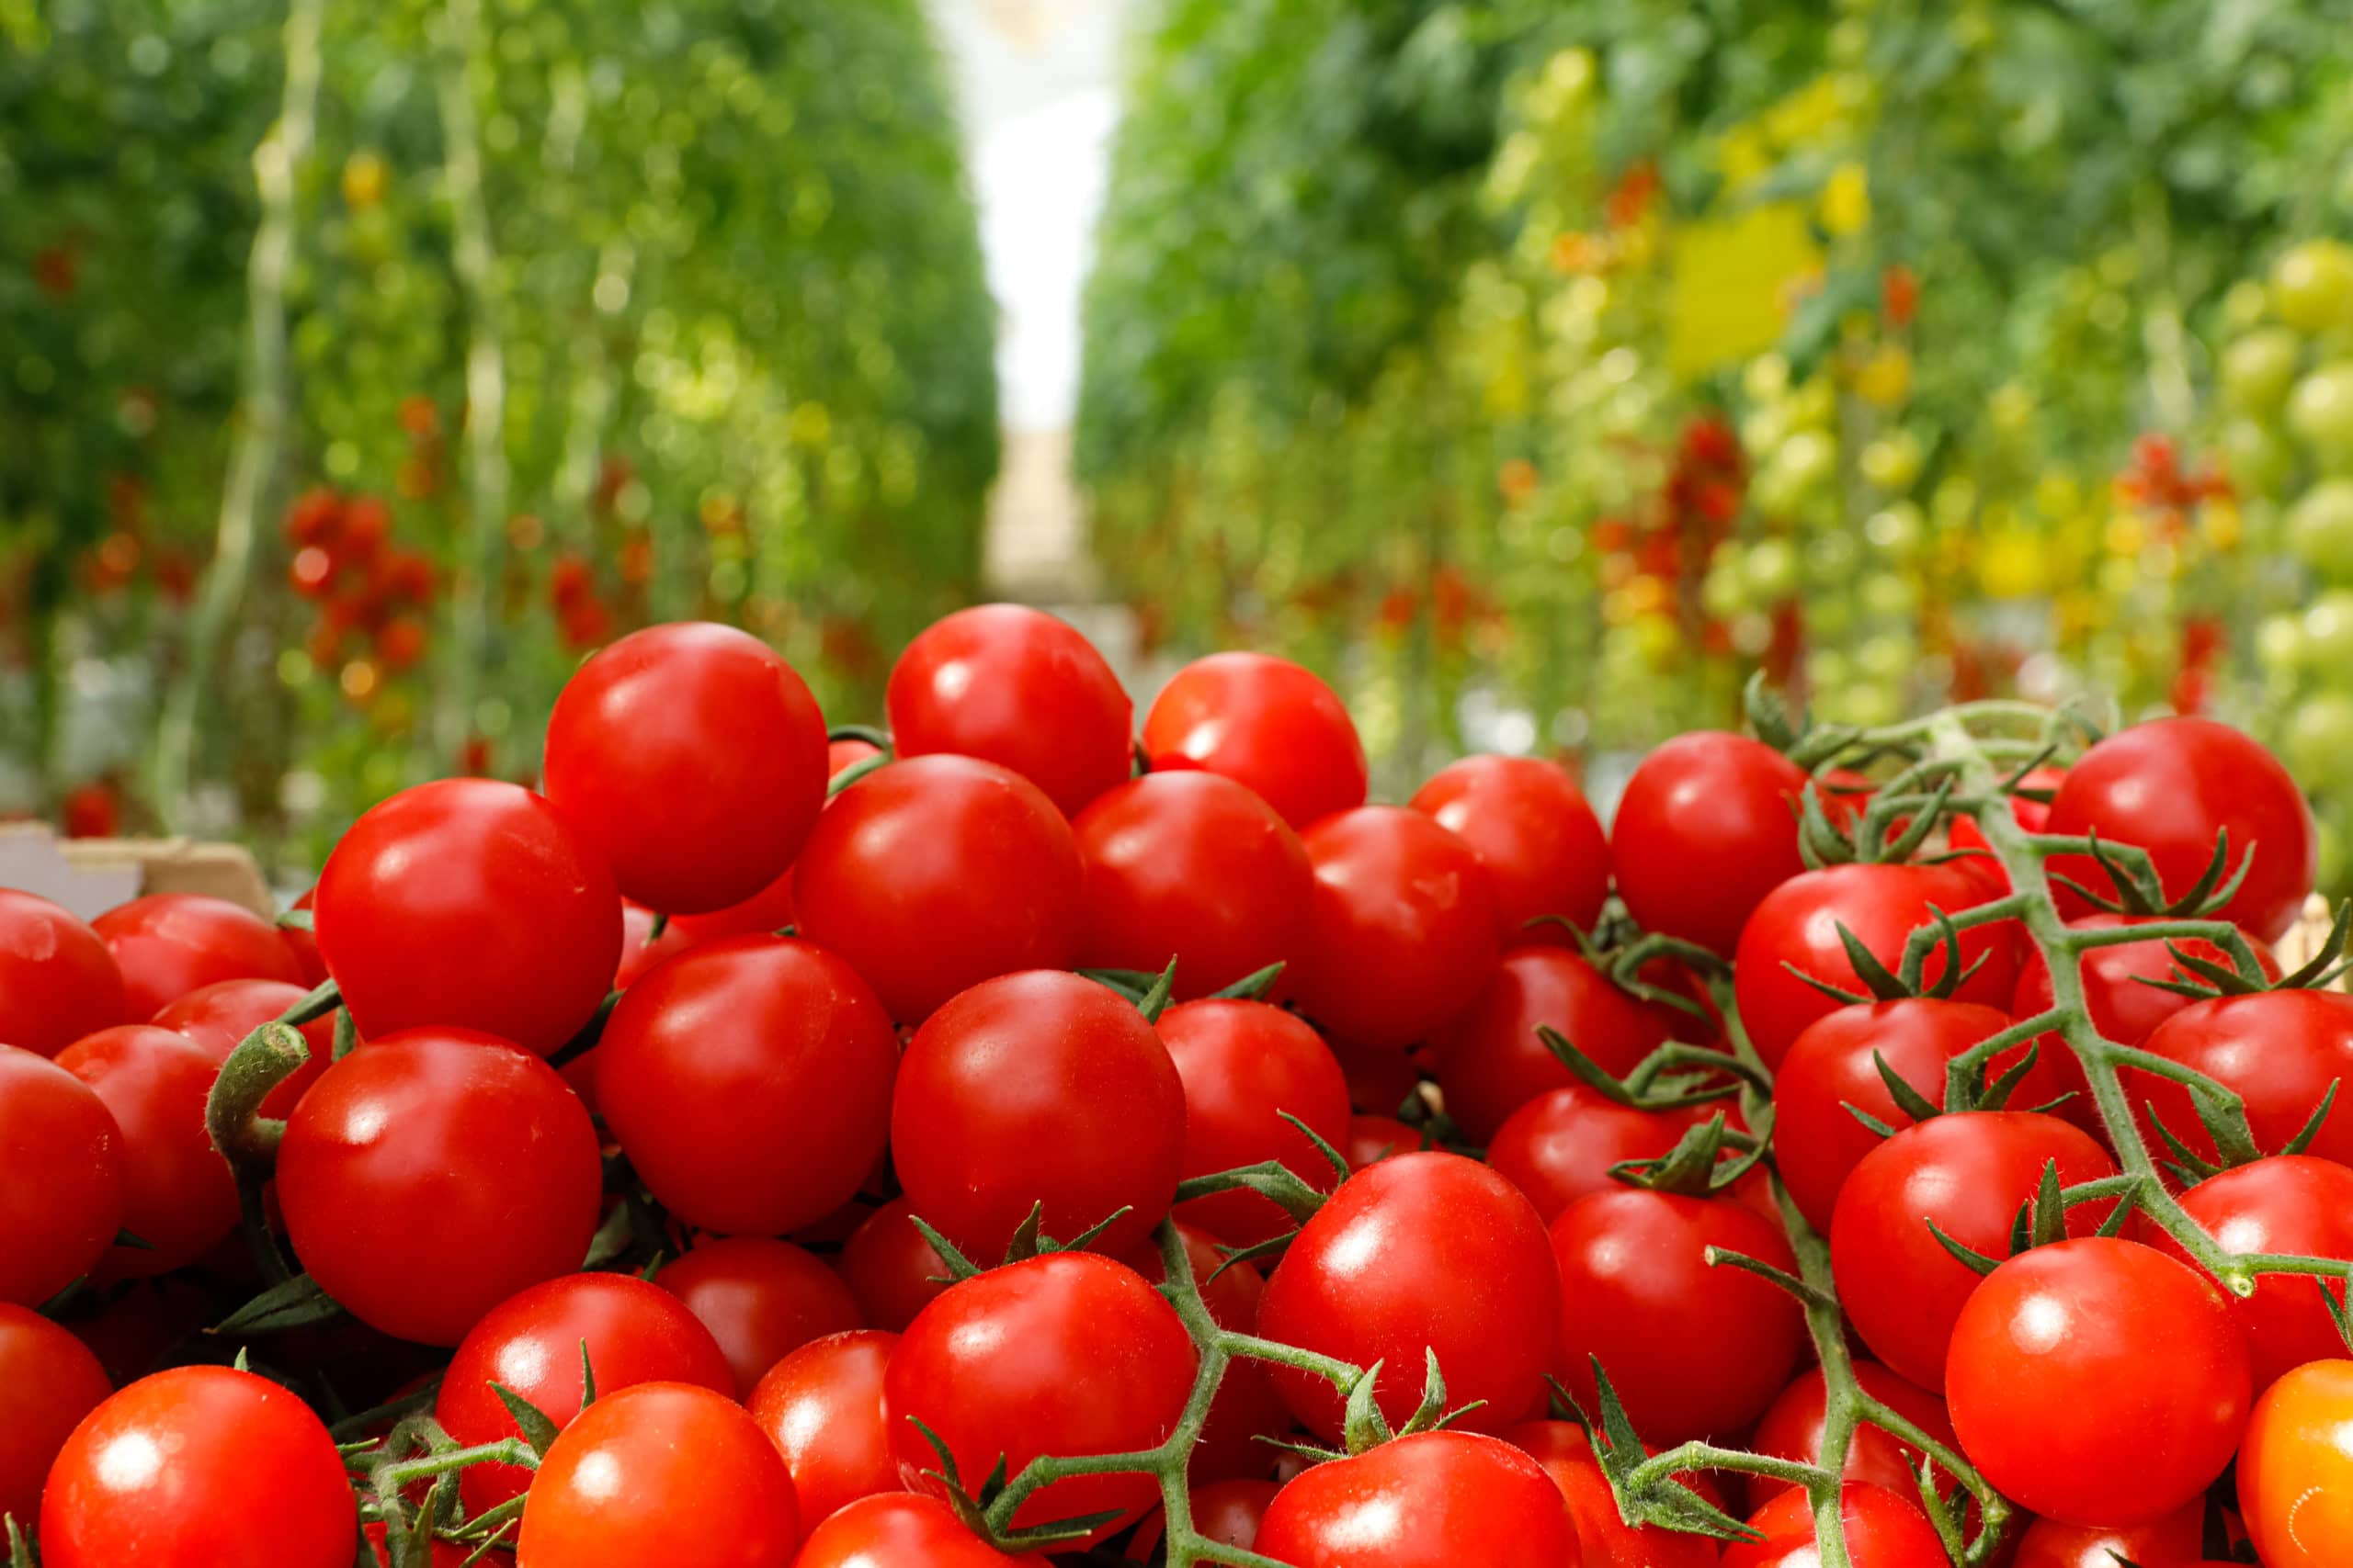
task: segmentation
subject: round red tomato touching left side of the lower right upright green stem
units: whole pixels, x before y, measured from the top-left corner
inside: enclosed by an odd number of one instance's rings
[[[1739,1432],[1805,1349],[1805,1314],[1777,1286],[1708,1267],[1706,1248],[1798,1272],[1788,1241],[1732,1199],[1595,1192],[1553,1220],[1562,1382],[1598,1410],[1593,1359],[1645,1441]]]

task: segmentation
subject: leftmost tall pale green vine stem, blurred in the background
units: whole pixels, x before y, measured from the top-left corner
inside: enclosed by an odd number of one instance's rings
[[[285,21],[285,89],[278,125],[254,148],[261,223],[245,266],[252,362],[245,421],[228,454],[221,512],[214,522],[212,564],[188,628],[188,663],[165,701],[155,733],[155,809],[176,825],[188,804],[198,719],[214,686],[214,668],[252,576],[254,534],[275,487],[292,421],[287,371],[287,275],[294,268],[296,195],[318,127],[320,26],[325,0],[289,0]]]

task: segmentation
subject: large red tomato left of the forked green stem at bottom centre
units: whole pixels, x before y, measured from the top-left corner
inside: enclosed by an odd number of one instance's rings
[[[976,1274],[925,1307],[892,1352],[882,1425],[899,1474],[939,1483],[922,1420],[976,1488],[1042,1453],[1136,1453],[1176,1429],[1195,1354],[1176,1309],[1141,1274],[1094,1253],[1047,1253]],[[1120,1509],[1136,1519],[1158,1495],[1151,1476],[1073,1476],[1038,1490],[1016,1526]],[[1099,1530],[1094,1540],[1118,1526]]]

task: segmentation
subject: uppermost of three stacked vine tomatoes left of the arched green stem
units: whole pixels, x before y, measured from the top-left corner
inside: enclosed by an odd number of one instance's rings
[[[1838,936],[1840,926],[1852,931],[1871,957],[1897,969],[1906,938],[1915,926],[1932,922],[1932,905],[1958,914],[1984,900],[1986,889],[1951,865],[1833,865],[1777,886],[1748,917],[1739,957],[1732,959],[1734,999],[1758,1056],[1779,1070],[1805,1025],[1840,1006],[1786,966],[1859,997],[1871,994],[1854,976]],[[2009,1004],[2019,978],[2014,931],[2014,922],[1998,922],[1960,933],[1962,971],[1979,959],[1984,966],[1953,992],[1958,1001]],[[1934,985],[1944,969],[1946,952],[1939,945],[1920,978]]]

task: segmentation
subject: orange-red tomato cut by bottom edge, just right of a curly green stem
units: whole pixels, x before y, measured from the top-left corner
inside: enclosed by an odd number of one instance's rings
[[[525,1497],[518,1568],[788,1568],[800,1544],[784,1455],[736,1401],[689,1382],[598,1399]]]

